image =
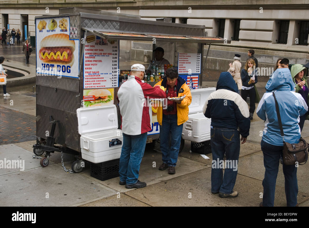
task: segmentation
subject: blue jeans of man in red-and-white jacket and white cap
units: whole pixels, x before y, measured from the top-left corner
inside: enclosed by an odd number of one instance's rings
[[[139,168],[145,152],[147,132],[140,135],[123,135],[123,145],[119,161],[120,181],[136,184]]]

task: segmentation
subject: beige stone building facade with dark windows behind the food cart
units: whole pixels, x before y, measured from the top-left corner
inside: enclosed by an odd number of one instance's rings
[[[24,40],[24,25],[30,36],[35,35],[35,16],[57,15],[59,8],[72,6],[205,25],[207,36],[231,40],[211,45],[208,69],[226,71],[234,54],[244,62],[248,49],[255,50],[259,67],[273,67],[279,57],[292,64],[309,61],[309,0],[0,0],[0,27],[19,28]]]

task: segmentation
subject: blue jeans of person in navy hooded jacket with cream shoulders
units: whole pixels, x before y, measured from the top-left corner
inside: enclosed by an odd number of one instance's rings
[[[211,192],[231,194],[236,182],[238,171],[238,158],[240,150],[239,131],[229,128],[211,128],[210,129],[211,152],[213,155],[211,168]],[[226,154],[226,167],[223,161]],[[220,167],[223,163],[225,167]]]

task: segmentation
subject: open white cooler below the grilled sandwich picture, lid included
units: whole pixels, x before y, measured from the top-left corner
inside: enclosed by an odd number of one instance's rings
[[[76,113],[82,158],[92,163],[120,158],[123,137],[116,106],[78,108]]]

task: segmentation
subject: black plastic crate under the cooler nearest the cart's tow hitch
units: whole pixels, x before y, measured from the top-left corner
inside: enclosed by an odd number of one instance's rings
[[[90,176],[108,180],[119,176],[119,158],[101,163],[90,163]]]

